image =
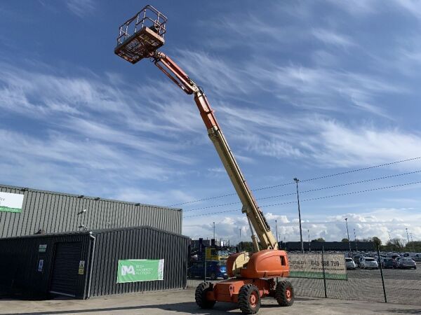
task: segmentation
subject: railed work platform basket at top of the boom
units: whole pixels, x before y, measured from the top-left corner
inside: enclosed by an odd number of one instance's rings
[[[145,6],[120,26],[115,54],[132,64],[145,57],[152,57],[154,51],[164,43],[166,22],[166,16],[159,10]]]

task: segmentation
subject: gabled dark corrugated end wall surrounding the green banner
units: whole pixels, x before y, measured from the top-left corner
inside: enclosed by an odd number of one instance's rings
[[[149,227],[94,232],[91,296],[185,288],[189,239]],[[123,259],[164,259],[163,281],[116,283]]]

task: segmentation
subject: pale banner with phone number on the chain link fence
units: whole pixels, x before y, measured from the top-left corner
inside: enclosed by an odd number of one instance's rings
[[[326,279],[347,280],[345,255],[325,253],[290,253],[288,255],[290,277],[323,279],[323,265]]]

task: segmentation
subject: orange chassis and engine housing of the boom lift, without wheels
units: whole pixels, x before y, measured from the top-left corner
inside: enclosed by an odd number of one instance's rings
[[[229,276],[234,276],[232,262],[238,255],[241,255],[241,253],[233,254],[227,260]],[[258,287],[261,298],[274,297],[276,288],[274,278],[288,275],[289,266],[286,251],[277,249],[259,251],[251,255],[247,267],[240,269],[239,277],[213,283],[211,290],[206,293],[206,300],[236,303],[241,287],[249,283]]]

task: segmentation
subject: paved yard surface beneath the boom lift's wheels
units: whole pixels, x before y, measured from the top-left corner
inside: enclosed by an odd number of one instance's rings
[[[241,314],[235,304],[217,303],[202,310],[194,302],[194,290],[168,290],[132,293],[89,300],[57,298],[45,301],[0,299],[0,314]],[[259,314],[421,314],[421,307],[410,304],[343,301],[298,297],[292,307],[278,307],[276,301],[262,301]]]

